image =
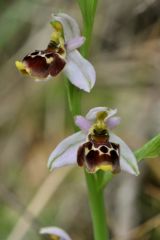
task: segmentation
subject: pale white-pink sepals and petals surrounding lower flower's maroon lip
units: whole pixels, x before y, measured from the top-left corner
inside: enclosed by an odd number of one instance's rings
[[[109,109],[105,108],[106,111],[108,111],[108,120],[114,118],[115,121],[116,117],[113,117],[117,110],[115,109]],[[83,145],[86,142],[86,138],[88,135],[88,130],[90,126],[94,123],[95,116],[97,112],[103,111],[104,107],[98,107],[91,109],[85,117],[83,116],[76,116],[75,117],[75,123],[81,131],[72,134],[71,136],[65,138],[61,143],[58,144],[58,146],[53,150],[51,153],[49,160],[48,160],[48,166],[50,170],[53,170],[55,168],[59,168],[62,166],[70,165],[70,164],[77,164],[77,152],[81,145]],[[89,118],[90,120],[86,119]],[[79,121],[77,124],[77,120]],[[120,119],[118,118],[118,122]],[[117,119],[116,119],[117,121]],[[108,126],[108,123],[107,123]],[[112,126],[113,127],[113,126]],[[115,125],[114,125],[115,127]],[[110,142],[116,143],[120,145],[120,168],[130,174],[138,175],[138,165],[136,158],[131,151],[131,149],[128,147],[128,145],[118,136],[113,134],[109,130],[109,136],[110,136]]]

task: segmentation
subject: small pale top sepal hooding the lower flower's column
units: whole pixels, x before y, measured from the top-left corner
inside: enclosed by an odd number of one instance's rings
[[[98,112],[106,112],[107,113],[107,117],[105,118],[105,121],[106,121],[108,118],[112,117],[113,115],[115,115],[117,113],[117,109],[111,109],[108,107],[95,107],[95,108],[92,108],[87,113],[86,118],[90,121],[95,121]]]

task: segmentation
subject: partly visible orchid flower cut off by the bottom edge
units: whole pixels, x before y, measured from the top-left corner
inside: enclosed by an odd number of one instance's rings
[[[69,235],[58,227],[44,227],[40,229],[40,234],[48,240],[71,240]]]

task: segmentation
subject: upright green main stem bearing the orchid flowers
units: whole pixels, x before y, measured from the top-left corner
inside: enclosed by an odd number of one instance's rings
[[[97,0],[78,0],[84,23],[85,44],[81,49],[84,57],[88,57],[91,45],[91,36],[94,17],[97,7]],[[75,86],[66,81],[69,109],[74,117],[81,113],[81,93]],[[75,129],[76,130],[76,129]],[[105,216],[105,204],[103,188],[100,188],[99,179],[103,178],[103,173],[89,174],[85,171],[86,183],[88,187],[89,205],[91,209],[93,232],[95,240],[108,240],[108,229]]]

